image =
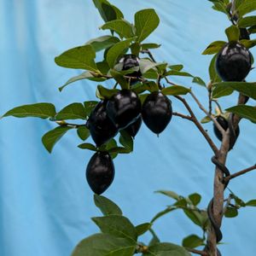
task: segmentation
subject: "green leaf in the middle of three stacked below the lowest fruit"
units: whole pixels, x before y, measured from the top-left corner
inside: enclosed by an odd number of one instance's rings
[[[120,215],[108,215],[92,218],[102,233],[137,241],[137,230],[128,218]]]

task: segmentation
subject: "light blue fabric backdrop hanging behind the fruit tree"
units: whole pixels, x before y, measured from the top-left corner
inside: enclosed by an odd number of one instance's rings
[[[160,26],[148,42],[161,44],[153,50],[158,61],[182,63],[189,73],[208,80],[210,56],[201,55],[214,40],[225,40],[229,21],[201,0],[118,1],[127,20],[139,9],[154,8]],[[61,109],[71,102],[95,99],[96,84],[80,81],[61,93],[58,87],[79,70],[57,67],[56,55],[84,44],[105,32],[90,0],[0,0],[0,114],[10,108],[34,102],[53,102]],[[253,51],[254,52],[254,51]],[[253,71],[248,80],[255,81]],[[191,86],[189,79],[173,79]],[[108,84],[112,84],[109,83]],[[195,84],[193,90],[207,104],[207,91]],[[186,96],[199,119],[204,117],[191,97]],[[224,108],[236,103],[236,96],[221,101]],[[174,111],[186,113],[175,99]],[[84,170],[92,153],[69,131],[48,154],[40,143],[55,124],[43,119],[0,120],[0,255],[67,256],[85,236],[97,232],[90,217],[99,216]],[[205,125],[214,141],[212,124]],[[241,137],[230,153],[231,172],[255,163],[255,125],[241,121]],[[219,144],[219,143],[218,143]],[[114,160],[116,177],[104,194],[116,201],[134,224],[153,218],[172,201],[153,192],[170,189],[180,195],[195,191],[203,195],[201,207],[212,197],[212,151],[195,126],[173,117],[160,137],[143,125],[135,140],[134,153]],[[230,189],[245,201],[255,198],[256,172],[230,183]],[[254,195],[254,196],[253,196]],[[236,219],[224,219],[223,255],[254,255],[256,209],[241,209]],[[181,243],[184,236],[201,230],[173,212],[161,218],[154,230],[162,241]],[[148,241],[149,235],[143,236]]]

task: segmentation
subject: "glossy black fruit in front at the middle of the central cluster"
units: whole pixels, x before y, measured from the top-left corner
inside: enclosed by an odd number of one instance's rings
[[[107,104],[108,117],[119,129],[124,129],[134,122],[141,113],[142,103],[131,90],[119,90]]]

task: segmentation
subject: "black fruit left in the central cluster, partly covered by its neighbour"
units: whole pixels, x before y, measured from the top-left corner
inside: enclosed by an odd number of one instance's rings
[[[90,130],[90,136],[97,147],[101,146],[103,143],[107,143],[109,139],[115,137],[118,133],[118,128],[116,125],[113,125],[111,119],[108,118],[106,105],[106,101],[99,102],[90,113],[90,117],[86,123]]]

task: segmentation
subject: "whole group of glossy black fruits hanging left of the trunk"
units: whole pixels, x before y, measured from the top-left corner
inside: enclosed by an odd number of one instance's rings
[[[137,57],[125,55],[123,70],[138,66]],[[131,73],[131,77],[141,74]],[[90,136],[97,147],[117,135],[119,130],[125,130],[135,137],[142,125],[142,120],[156,134],[166,129],[172,119],[172,102],[160,91],[149,94],[143,104],[139,96],[132,90],[119,90],[108,100],[98,102],[90,113],[86,123]],[[96,194],[102,194],[113,182],[114,166],[108,151],[98,151],[94,154],[86,168],[86,179],[90,189]]]

